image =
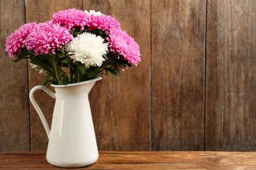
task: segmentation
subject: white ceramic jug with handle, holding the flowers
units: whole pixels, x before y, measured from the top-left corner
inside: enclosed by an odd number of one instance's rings
[[[67,85],[51,85],[56,93],[45,86],[30,91],[30,101],[39,114],[49,138],[47,161],[58,167],[83,167],[98,160],[95,129],[88,94],[101,77]],[[51,130],[33,93],[43,90],[56,99]]]

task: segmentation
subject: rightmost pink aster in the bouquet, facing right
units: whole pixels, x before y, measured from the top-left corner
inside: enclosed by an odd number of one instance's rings
[[[129,63],[137,65],[140,61],[140,48],[137,42],[130,37],[125,31],[118,28],[106,31],[108,37],[107,41],[110,42],[110,50],[123,56]]]

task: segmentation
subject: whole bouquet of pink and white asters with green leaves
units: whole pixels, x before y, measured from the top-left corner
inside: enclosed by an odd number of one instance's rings
[[[51,21],[24,24],[7,37],[5,46],[13,61],[29,59],[32,68],[45,73],[45,86],[108,73],[119,78],[120,71],[140,61],[137,42],[115,18],[95,10],[61,10]]]

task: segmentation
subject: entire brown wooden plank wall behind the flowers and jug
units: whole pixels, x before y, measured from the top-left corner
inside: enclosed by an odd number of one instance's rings
[[[12,63],[5,39],[70,8],[115,17],[142,55],[90,93],[99,150],[255,151],[255,0],[1,0],[0,151],[48,141],[28,99],[43,75]],[[35,97],[50,124],[54,99]]]

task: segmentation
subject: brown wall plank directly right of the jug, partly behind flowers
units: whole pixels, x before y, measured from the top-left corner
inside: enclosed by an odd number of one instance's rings
[[[141,60],[121,73],[103,76],[89,94],[99,150],[150,149],[150,1],[83,1],[101,11],[138,42]],[[138,17],[143,16],[143,17]]]

